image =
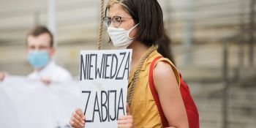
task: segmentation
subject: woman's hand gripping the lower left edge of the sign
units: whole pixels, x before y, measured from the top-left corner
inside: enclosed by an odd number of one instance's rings
[[[83,128],[85,126],[86,117],[80,108],[76,108],[75,112],[72,113],[69,124],[74,128]]]

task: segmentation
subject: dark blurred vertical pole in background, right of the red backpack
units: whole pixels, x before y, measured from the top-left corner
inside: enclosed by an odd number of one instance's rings
[[[222,97],[222,128],[227,128],[227,103],[228,103],[228,42],[223,46],[223,82],[225,87]]]

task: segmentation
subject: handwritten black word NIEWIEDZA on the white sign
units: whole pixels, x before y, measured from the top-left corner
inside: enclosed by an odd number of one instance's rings
[[[118,60],[120,59],[120,60]],[[98,63],[98,61],[101,61]],[[80,80],[115,79],[129,77],[130,53],[80,55]]]

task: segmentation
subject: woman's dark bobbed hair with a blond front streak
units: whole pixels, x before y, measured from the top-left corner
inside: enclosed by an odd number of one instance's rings
[[[119,3],[138,25],[135,40],[146,46],[155,45],[164,34],[162,9],[157,0],[110,0],[108,8]]]

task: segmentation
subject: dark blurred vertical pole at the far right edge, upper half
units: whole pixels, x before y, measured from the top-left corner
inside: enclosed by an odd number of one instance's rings
[[[255,0],[250,3],[250,25],[249,25],[249,65],[254,64],[254,42],[255,42]]]

